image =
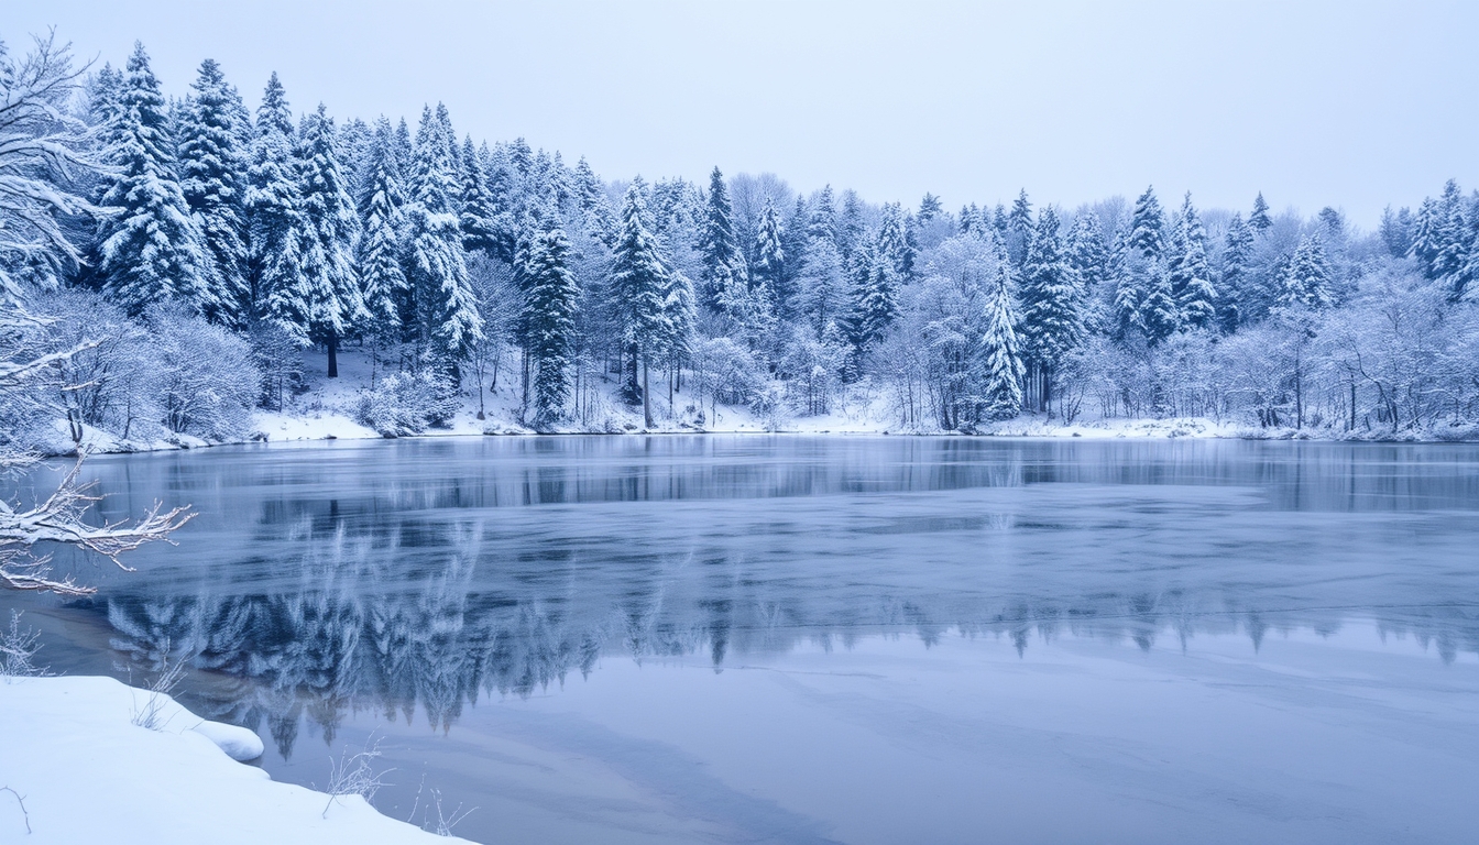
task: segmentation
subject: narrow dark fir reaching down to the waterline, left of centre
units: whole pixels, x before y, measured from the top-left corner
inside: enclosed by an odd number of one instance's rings
[[[575,342],[575,303],[580,290],[571,272],[571,249],[565,229],[550,212],[544,231],[534,235],[527,257],[524,323],[529,336],[529,367],[534,382],[534,419],[546,428],[565,416],[569,394],[571,355]]]

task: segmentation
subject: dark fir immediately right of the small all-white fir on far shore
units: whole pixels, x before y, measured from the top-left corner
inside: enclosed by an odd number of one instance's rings
[[[1022,263],[1021,342],[1028,367],[1028,394],[1047,410],[1053,380],[1084,336],[1084,293],[1080,277],[1063,256],[1057,212],[1044,206]]]

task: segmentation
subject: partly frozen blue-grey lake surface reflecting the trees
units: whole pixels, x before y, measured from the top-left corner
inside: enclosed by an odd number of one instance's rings
[[[41,661],[481,842],[1460,842],[1479,447],[572,437],[89,462]],[[72,567],[72,561],[62,561]],[[435,807],[435,802],[433,802]]]

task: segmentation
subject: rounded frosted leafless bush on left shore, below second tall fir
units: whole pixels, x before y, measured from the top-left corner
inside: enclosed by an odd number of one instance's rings
[[[179,308],[149,312],[158,349],[158,403],[172,432],[240,437],[251,423],[262,374],[238,334]]]

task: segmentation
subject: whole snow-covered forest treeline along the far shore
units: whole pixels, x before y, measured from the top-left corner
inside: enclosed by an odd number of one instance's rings
[[[1479,426],[1479,194],[1362,232],[1331,207],[870,204],[774,175],[606,181],[522,139],[254,111],[210,59],[169,98],[136,46],[0,55],[0,283],[75,440],[240,435],[302,351],[374,361],[361,422],[445,423],[506,379],[525,425],[648,426],[716,404],[887,404],[905,429],[1023,413],[1199,416],[1336,437]],[[512,379],[512,382],[509,382]],[[31,405],[27,405],[31,407]],[[22,420],[9,420],[13,432]]]

